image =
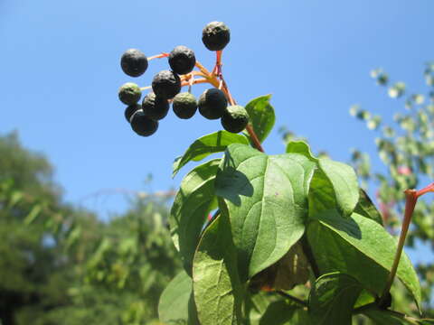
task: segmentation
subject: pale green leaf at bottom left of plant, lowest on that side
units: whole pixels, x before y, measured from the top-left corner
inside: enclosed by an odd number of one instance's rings
[[[197,315],[192,308],[192,279],[184,271],[165,287],[158,303],[158,316],[165,324],[195,325]]]

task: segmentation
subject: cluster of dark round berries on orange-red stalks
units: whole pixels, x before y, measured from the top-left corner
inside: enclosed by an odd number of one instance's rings
[[[221,22],[208,23],[203,28],[203,44],[208,50],[216,51],[217,59],[212,72],[203,68],[196,61],[193,50],[184,45],[176,46],[170,53],[150,58],[137,49],[127,50],[122,55],[120,66],[131,77],[144,74],[148,61],[157,58],[168,58],[171,69],[158,72],[151,87],[139,88],[137,84],[127,82],[119,88],[118,97],[127,105],[125,117],[137,135],[153,135],[158,121],[167,115],[170,103],[179,118],[191,118],[199,109],[199,113],[207,119],[220,118],[223,128],[231,133],[239,133],[248,125],[246,109],[236,105],[222,77],[222,50],[229,43],[230,35],[229,28]],[[195,67],[198,70],[194,70]],[[191,93],[192,86],[205,82],[212,84],[213,88],[206,89],[196,100]],[[188,91],[181,92],[184,86],[188,86]],[[147,88],[152,88],[152,92],[143,98],[140,105],[142,90]]]

